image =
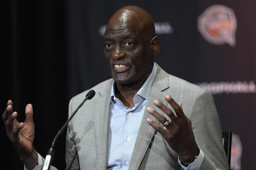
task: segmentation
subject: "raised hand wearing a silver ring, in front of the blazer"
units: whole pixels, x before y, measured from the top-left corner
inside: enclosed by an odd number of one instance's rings
[[[177,152],[183,162],[190,163],[194,160],[195,156],[199,155],[199,148],[195,142],[191,121],[183,113],[180,103],[177,104],[168,95],[165,96],[165,100],[171,105],[177,116],[160,101],[154,100],[153,103],[170,117],[171,122],[151,107],[148,107],[147,111],[157,118],[166,128],[162,128],[150,118],[147,119],[147,122],[163,135],[169,146]]]

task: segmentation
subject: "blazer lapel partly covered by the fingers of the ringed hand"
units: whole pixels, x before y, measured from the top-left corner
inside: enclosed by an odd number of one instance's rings
[[[131,156],[129,170],[137,170],[139,168],[155,133],[155,129],[147,123],[147,118],[151,118],[155,123],[159,124],[159,121],[147,112],[147,107],[152,107],[159,114],[163,115],[163,112],[153,104],[153,101],[159,100],[167,106],[168,103],[165,100],[165,94],[162,91],[168,87],[168,74],[157,65],[157,72],[151,85],[146,108]]]

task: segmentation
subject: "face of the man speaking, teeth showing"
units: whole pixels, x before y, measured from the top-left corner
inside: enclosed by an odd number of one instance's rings
[[[153,67],[150,38],[143,34],[134,20],[110,21],[105,31],[104,46],[109,73],[117,83],[138,82]]]

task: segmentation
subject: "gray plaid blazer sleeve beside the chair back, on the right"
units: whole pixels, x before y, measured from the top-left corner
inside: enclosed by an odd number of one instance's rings
[[[228,170],[221,124],[213,96],[205,90],[200,92],[193,101],[188,117],[197,145],[204,153],[199,170]]]

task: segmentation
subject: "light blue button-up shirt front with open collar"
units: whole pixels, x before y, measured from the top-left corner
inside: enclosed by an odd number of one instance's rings
[[[154,63],[151,74],[133,98],[133,108],[124,106],[123,103],[115,97],[115,82],[113,82],[110,95],[108,170],[128,170],[129,168],[139,126],[156,71],[157,66]]]

